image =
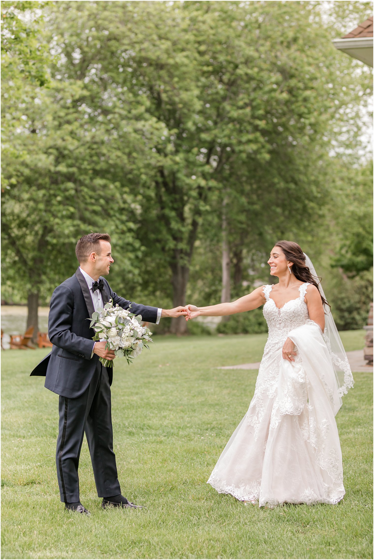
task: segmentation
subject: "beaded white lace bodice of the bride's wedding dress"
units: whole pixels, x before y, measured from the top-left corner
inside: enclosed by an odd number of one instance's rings
[[[269,337],[265,346],[265,351],[270,347],[283,346],[288,333],[297,326],[305,325],[309,319],[308,307],[304,301],[306,289],[310,282],[301,284],[298,288],[300,296],[295,300],[289,300],[283,307],[277,307],[275,301],[270,297],[273,285],[268,284],[263,287],[266,302],[263,307],[263,314],[268,323]]]

